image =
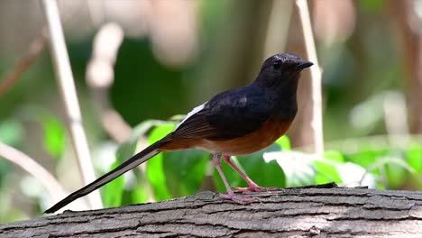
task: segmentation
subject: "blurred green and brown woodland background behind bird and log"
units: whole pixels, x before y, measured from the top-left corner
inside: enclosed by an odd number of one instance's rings
[[[58,3],[96,176],[170,132],[194,106],[252,82],[272,54],[307,58],[294,0]],[[311,154],[306,70],[287,137],[237,162],[263,186],[422,188],[422,1],[308,4],[323,70],[325,153]],[[35,160],[56,187],[80,188],[41,4],[3,0],[0,19],[0,142]],[[41,215],[57,198],[19,164],[34,167],[4,160],[1,148],[0,223]],[[102,189],[103,204],[225,191],[209,158],[195,150],[158,156]],[[225,171],[233,186],[245,185]]]

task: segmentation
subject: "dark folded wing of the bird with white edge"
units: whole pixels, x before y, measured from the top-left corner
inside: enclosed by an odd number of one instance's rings
[[[240,88],[219,94],[197,106],[174,131],[175,138],[230,140],[260,129],[274,103],[252,89]]]

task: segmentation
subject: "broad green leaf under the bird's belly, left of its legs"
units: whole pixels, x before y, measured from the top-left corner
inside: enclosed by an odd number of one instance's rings
[[[206,176],[209,153],[199,150],[163,153],[163,169],[171,197],[192,195]]]

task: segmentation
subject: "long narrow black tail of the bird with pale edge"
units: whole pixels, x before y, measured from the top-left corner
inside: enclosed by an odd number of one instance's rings
[[[105,175],[101,176],[100,178],[97,178],[94,182],[88,184],[84,188],[78,189],[78,191],[73,192],[68,197],[65,197],[60,202],[58,202],[56,205],[51,206],[49,209],[47,209],[44,213],[50,214],[58,211],[61,207],[67,206],[69,203],[75,201],[79,197],[84,197],[90,192],[96,190],[97,188],[101,188],[106,183],[114,180],[115,178],[121,176],[125,172],[127,172],[130,169],[135,168],[136,166],[142,164],[146,160],[150,160],[151,157],[154,155],[160,153],[158,149],[161,147],[161,145],[168,142],[168,140],[161,140],[158,142],[155,142],[151,144],[149,147],[145,148],[145,150],[133,155],[133,157],[129,160],[124,161],[121,165],[119,165],[117,168],[109,171]]]

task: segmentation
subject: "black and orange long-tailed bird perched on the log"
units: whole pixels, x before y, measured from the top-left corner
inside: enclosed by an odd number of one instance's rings
[[[263,191],[231,160],[232,156],[250,154],[269,147],[285,134],[298,112],[298,81],[301,71],[313,65],[294,53],[278,53],[265,59],[258,76],[247,86],[227,90],[195,107],[158,142],[125,160],[87,186],[71,193],[44,213],[54,213],[69,203],[166,151],[198,148],[212,153],[212,161],[222,178],[223,199],[245,204],[251,197],[234,194],[221,161],[230,165],[248,184],[237,191]]]

